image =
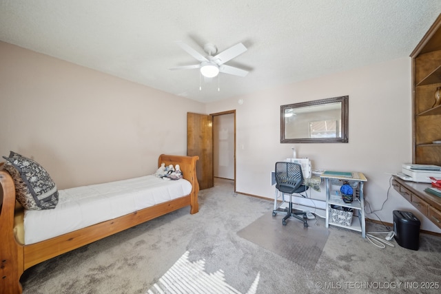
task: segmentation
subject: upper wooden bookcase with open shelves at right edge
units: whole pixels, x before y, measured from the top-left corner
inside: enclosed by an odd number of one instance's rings
[[[441,165],[441,14],[411,54],[413,90],[413,163]]]

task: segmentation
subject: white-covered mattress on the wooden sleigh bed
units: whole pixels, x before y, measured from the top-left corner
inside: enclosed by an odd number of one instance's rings
[[[128,180],[59,190],[55,209],[25,210],[25,244],[37,243],[188,195],[185,179],[143,176]]]

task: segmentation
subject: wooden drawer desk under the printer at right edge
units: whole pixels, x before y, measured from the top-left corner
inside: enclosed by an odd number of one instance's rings
[[[408,182],[394,176],[392,185],[393,189],[396,189],[424,216],[427,216],[431,222],[441,228],[441,198],[424,192],[424,189],[430,187],[430,184]]]

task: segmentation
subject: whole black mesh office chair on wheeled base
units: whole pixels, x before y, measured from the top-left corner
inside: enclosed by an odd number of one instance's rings
[[[285,194],[289,194],[289,206],[287,209],[287,215],[283,218],[282,224],[286,226],[287,219],[291,218],[292,216],[294,218],[302,220],[303,226],[308,227],[307,213],[305,211],[293,211],[292,209],[292,194],[302,193],[308,189],[307,186],[303,185],[302,166],[294,162],[276,162],[275,176],[276,189],[280,191],[280,193],[282,193],[283,200],[285,200]],[[276,214],[279,212],[285,211],[274,209],[273,216],[276,216]]]

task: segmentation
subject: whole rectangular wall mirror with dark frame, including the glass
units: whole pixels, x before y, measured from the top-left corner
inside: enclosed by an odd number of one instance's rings
[[[349,96],[280,106],[280,143],[348,143]]]

